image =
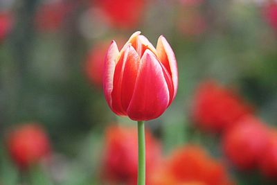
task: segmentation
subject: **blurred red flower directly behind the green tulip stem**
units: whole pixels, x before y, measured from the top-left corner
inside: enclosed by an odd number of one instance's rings
[[[104,179],[109,183],[136,184],[138,141],[136,127],[108,127],[105,134],[103,159]],[[146,130],[146,171],[161,159],[160,143]]]

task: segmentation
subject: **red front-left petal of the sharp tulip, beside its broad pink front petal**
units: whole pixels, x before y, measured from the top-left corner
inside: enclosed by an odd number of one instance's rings
[[[126,116],[126,109],[132,98],[136,75],[139,69],[139,55],[131,44],[125,46],[114,71],[114,89],[111,92],[112,107],[120,116]]]

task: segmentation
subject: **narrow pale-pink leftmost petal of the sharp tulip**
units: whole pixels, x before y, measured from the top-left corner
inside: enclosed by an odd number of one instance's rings
[[[118,54],[119,51],[116,42],[112,41],[107,51],[103,70],[103,91],[107,103],[111,109],[111,91],[114,89],[114,70],[116,69],[116,60],[118,58]]]

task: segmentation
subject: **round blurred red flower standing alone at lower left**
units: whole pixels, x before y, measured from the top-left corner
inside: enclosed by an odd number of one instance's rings
[[[21,125],[8,134],[8,150],[15,164],[26,169],[50,154],[46,133],[36,124]]]

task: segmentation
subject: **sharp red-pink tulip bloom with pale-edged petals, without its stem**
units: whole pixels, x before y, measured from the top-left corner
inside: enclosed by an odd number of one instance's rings
[[[158,118],[175,98],[177,86],[177,61],[165,37],[159,37],[156,49],[139,31],[121,51],[111,42],[103,89],[114,113],[134,121]]]

